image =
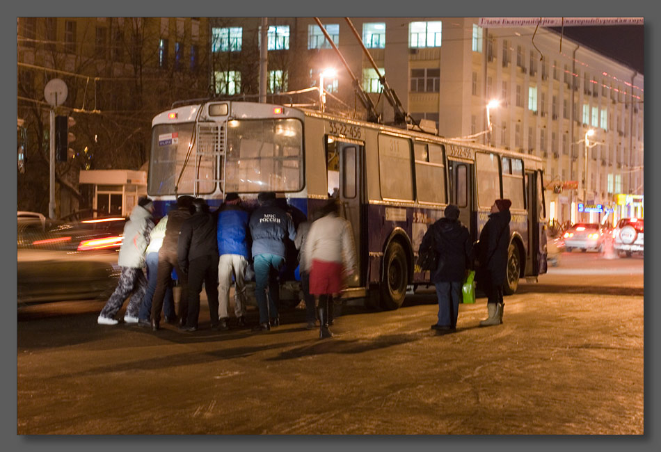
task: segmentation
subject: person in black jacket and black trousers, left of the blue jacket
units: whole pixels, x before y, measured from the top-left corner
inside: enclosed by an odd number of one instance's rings
[[[195,213],[184,221],[179,238],[179,266],[188,277],[188,316],[183,331],[196,331],[202,284],[207,292],[211,328],[218,328],[218,243],[216,216],[207,202],[193,200]]]

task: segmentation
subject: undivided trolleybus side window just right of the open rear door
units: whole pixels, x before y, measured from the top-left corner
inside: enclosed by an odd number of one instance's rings
[[[382,198],[413,201],[410,140],[379,134],[379,180]]]

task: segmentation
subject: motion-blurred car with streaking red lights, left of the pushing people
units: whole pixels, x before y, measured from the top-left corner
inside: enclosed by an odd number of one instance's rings
[[[109,296],[119,276],[117,250],[122,236],[116,232],[124,222],[124,218],[97,223],[19,219],[19,305]]]

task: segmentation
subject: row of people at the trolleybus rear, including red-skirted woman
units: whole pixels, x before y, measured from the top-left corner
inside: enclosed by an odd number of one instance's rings
[[[161,311],[180,330],[198,329],[202,284],[207,293],[212,328],[230,329],[228,306],[234,285],[236,327],[245,328],[246,271],[255,273],[259,323],[253,331],[280,325],[278,275],[285,264],[285,239],[299,250],[300,274],[309,330],[331,337],[332,300],[353,273],[356,251],[347,220],[338,215],[340,204],[330,198],[317,212],[317,220],[302,222],[298,232],[292,216],[278,206],[276,193],[263,192],[251,213],[237,193],[227,193],[217,211],[201,198],[183,195],[170,212],[154,225],[154,204],[142,197],[127,221],[119,252],[121,273],[117,288],[104,305],[97,323],[117,325],[116,314],[130,296],[125,323],[160,328]],[[147,277],[143,267],[147,267]],[[179,312],[172,293],[173,271],[181,286]]]

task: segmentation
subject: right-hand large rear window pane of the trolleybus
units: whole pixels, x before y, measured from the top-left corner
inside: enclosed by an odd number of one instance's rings
[[[225,191],[303,188],[303,126],[295,119],[231,120]]]

